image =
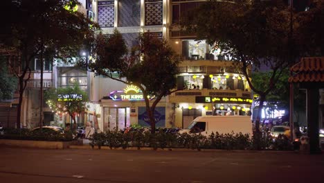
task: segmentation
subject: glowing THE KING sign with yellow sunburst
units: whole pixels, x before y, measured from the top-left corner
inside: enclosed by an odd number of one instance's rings
[[[110,92],[109,97],[114,101],[144,101],[143,92],[134,85],[127,85],[123,90]],[[152,100],[154,96],[147,96]]]

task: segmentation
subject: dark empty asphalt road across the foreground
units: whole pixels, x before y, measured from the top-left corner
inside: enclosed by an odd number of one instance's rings
[[[0,182],[324,182],[324,155],[0,147]]]

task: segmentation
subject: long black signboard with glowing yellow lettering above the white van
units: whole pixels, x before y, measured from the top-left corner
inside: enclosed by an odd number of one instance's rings
[[[196,96],[196,103],[242,103],[251,104],[251,98],[222,97],[222,96]]]

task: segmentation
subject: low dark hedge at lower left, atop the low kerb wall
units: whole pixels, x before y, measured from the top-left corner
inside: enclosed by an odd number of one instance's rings
[[[17,139],[31,141],[72,141],[72,132],[59,132],[55,130],[30,130],[26,128],[6,128],[0,135],[0,139]]]

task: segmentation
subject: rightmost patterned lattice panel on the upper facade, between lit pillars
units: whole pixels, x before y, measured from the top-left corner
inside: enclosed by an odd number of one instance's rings
[[[145,3],[145,25],[154,26],[163,23],[163,3]]]

